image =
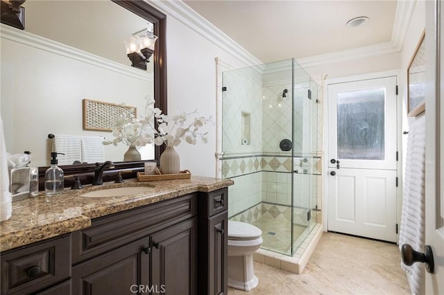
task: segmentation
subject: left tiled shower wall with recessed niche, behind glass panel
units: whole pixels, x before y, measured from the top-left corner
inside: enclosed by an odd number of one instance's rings
[[[262,201],[262,80],[252,69],[228,71],[223,87],[222,176],[234,181],[228,188],[232,215]]]

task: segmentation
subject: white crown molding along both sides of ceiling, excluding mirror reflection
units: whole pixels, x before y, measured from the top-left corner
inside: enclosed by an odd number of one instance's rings
[[[148,1],[148,0],[145,0]],[[296,59],[300,66],[306,68],[309,66],[317,66],[319,64],[328,64],[332,62],[343,62],[345,60],[357,60],[363,57],[384,55],[390,53],[399,53],[402,50],[405,36],[407,35],[408,25],[410,23],[413,10],[417,0],[398,0],[396,8],[395,21],[393,24],[392,37],[390,42],[352,48],[345,51],[336,51],[323,55],[314,55]],[[149,0],[151,5],[162,10],[167,15],[178,19],[196,33],[202,35],[210,42],[221,47],[224,51],[237,57],[246,65],[262,64],[254,55],[246,51],[245,48],[234,42],[233,39],[225,35],[219,28],[216,28],[209,21],[198,15],[189,6],[181,0],[162,1]]]

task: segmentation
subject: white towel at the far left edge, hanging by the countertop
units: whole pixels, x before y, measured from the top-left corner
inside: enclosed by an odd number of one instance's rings
[[[12,196],[9,192],[8,157],[3,134],[3,120],[0,116],[0,222],[8,220],[12,214]]]

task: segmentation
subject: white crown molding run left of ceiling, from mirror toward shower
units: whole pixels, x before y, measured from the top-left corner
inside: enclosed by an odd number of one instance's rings
[[[262,64],[257,57],[246,51],[246,49],[237,44],[237,42],[234,42],[233,39],[228,37],[228,35],[225,35],[225,33],[219,30],[219,28],[211,24],[207,19],[204,19],[184,2],[180,0],[150,0],[148,3],[158,10],[161,10],[166,15],[174,17],[205,39],[209,40],[216,46],[221,47],[223,51],[230,53],[239,61],[244,62],[247,66]]]

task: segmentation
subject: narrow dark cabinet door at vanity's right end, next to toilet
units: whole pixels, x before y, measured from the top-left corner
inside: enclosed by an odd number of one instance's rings
[[[228,215],[219,213],[209,219],[208,258],[209,294],[228,294]]]

